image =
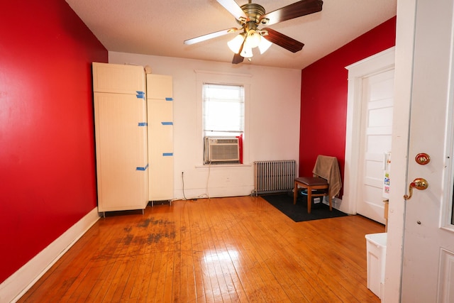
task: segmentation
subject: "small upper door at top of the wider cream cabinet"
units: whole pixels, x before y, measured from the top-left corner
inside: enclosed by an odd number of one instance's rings
[[[93,91],[145,94],[145,71],[138,65],[93,62]]]

